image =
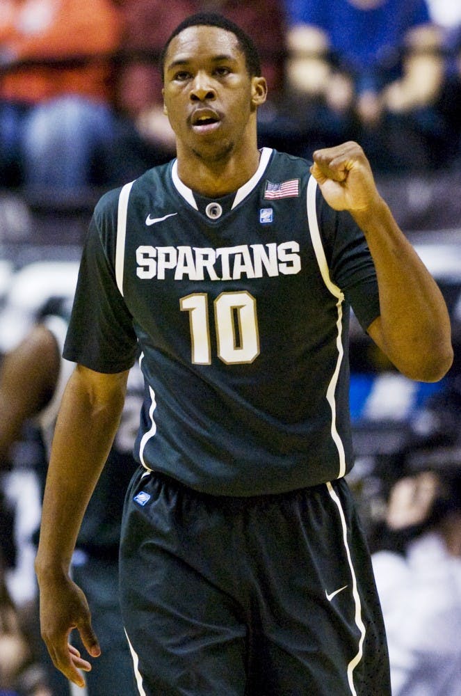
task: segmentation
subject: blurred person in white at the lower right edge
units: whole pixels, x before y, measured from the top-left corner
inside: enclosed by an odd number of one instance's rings
[[[373,569],[394,696],[461,696],[461,449],[410,452]]]

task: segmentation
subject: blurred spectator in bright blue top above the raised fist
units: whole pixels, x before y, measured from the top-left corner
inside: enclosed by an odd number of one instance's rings
[[[444,61],[426,0],[286,0],[286,9],[289,88],[314,104],[311,120],[325,122],[331,144],[357,139],[377,171],[439,164],[432,105]]]

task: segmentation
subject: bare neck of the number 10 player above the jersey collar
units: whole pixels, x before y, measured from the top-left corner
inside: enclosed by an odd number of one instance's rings
[[[232,193],[251,179],[261,156],[256,144],[251,150],[238,150],[214,160],[178,150],[178,176],[187,187],[208,198]]]

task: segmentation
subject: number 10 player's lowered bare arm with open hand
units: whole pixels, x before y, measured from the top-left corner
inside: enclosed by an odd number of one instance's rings
[[[54,432],[35,560],[42,637],[54,665],[78,686],[90,670],[68,644],[76,628],[88,653],[100,653],[83,592],[69,569],[83,514],[120,422],[128,370],[103,374],[77,365],[67,383]]]

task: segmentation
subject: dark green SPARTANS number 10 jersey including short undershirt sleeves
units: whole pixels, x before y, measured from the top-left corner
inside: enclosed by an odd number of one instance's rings
[[[348,316],[379,314],[373,260],[309,162],[264,148],[209,199],[177,161],[97,204],[65,356],[145,377],[135,456],[216,495],[281,493],[352,466]]]

